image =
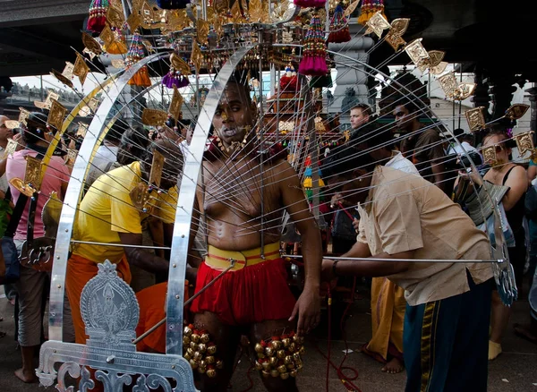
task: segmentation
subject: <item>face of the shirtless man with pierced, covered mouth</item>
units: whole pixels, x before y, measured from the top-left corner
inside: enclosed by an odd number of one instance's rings
[[[217,106],[212,124],[218,137],[226,144],[243,141],[246,133],[253,126],[254,108],[246,91],[235,83],[229,83]]]

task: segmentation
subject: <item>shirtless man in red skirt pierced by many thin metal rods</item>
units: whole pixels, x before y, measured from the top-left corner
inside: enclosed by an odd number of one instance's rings
[[[217,345],[217,356],[224,361],[216,378],[201,376],[203,391],[226,390],[242,335],[250,338],[251,345],[292,331],[302,337],[320,320],[320,230],[292,166],[285,158],[260,156],[255,132],[249,132],[256,117],[250,91],[230,81],[213,118],[217,136],[205,155],[204,183],[197,194],[200,212],[207,218],[209,249],[198,271],[196,292],[220,274],[229,259],[237,260],[234,269],[192,303],[194,328],[209,332]],[[278,223],[284,210],[302,234],[305,285],[296,302],[279,254]],[[259,349],[257,345],[256,351]],[[289,375],[295,373],[280,376],[264,370],[262,379],[268,390],[297,390],[294,377]]]

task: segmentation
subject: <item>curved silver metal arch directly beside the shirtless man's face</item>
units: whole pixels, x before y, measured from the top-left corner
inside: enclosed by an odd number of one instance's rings
[[[209,94],[201,107],[198,123],[192,134],[190,153],[185,154],[183,179],[179,187],[177,209],[175,211],[174,236],[172,241],[168,288],[166,298],[166,354],[183,354],[183,302],[184,274],[192,224],[192,209],[196,197],[196,188],[210,129],[212,118],[224,92],[227,81],[231,78],[237,64],[253,47],[241,47],[229,57],[218,72]]]

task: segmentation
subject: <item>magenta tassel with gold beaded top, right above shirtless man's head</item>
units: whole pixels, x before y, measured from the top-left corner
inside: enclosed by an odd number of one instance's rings
[[[311,17],[310,29],[304,38],[303,48],[303,58],[298,72],[311,76],[326,75],[328,73],[327,49],[322,24],[316,13]]]

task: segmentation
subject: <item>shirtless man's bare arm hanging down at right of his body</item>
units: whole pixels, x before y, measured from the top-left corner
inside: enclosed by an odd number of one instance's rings
[[[298,314],[297,334],[304,335],[315,328],[320,320],[320,267],[322,262],[322,241],[320,230],[311,215],[308,203],[304,199],[302,185],[294,168],[283,161],[275,168],[283,204],[301,234],[303,262],[305,269],[305,285],[293,314]]]

